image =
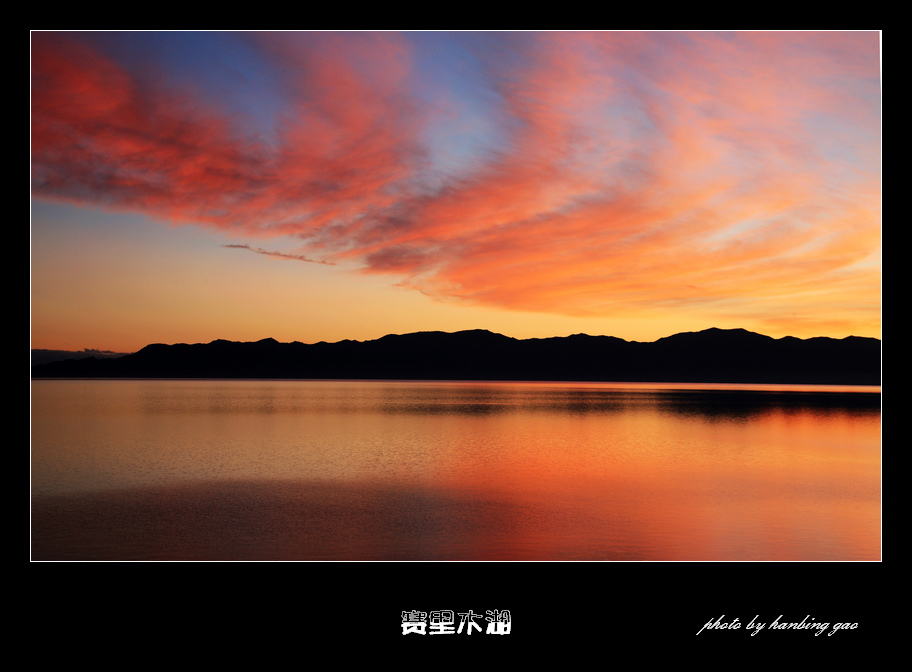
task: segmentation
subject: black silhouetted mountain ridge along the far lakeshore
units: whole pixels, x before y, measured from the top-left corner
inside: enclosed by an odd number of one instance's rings
[[[372,341],[215,340],[152,344],[118,358],[32,366],[53,378],[566,380],[879,385],[881,342],[711,328],[651,343],[574,334],[515,339],[483,329],[390,334]]]

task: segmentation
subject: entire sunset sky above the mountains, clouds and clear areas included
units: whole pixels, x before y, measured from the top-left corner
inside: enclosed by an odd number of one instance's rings
[[[881,35],[33,32],[33,348],[881,333]]]

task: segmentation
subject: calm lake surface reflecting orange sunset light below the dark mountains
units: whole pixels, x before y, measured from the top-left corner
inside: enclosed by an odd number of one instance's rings
[[[879,391],[37,380],[32,558],[879,560]]]

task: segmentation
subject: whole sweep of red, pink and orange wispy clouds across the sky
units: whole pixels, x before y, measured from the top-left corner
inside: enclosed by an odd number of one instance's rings
[[[34,193],[288,237],[481,305],[870,304],[876,33],[440,34],[484,83],[461,98],[425,95],[409,38],[242,36],[284,101],[264,138],[163,73],[35,34]]]

